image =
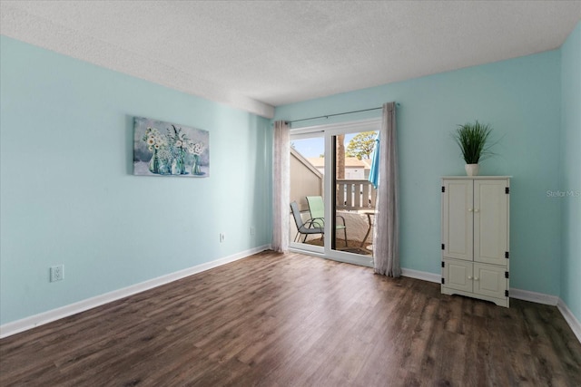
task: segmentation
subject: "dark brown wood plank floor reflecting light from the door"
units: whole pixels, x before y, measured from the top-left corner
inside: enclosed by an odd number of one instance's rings
[[[0,341],[0,385],[581,386],[554,306],[263,252]]]

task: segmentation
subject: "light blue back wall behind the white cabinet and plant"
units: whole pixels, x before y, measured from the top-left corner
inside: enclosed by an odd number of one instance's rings
[[[281,106],[275,119],[291,121],[399,102],[401,265],[434,274],[440,273],[439,178],[465,175],[450,133],[467,121],[490,123],[499,140],[497,157],[482,163],[481,174],[514,176],[511,287],[558,295],[560,204],[546,192],[559,187],[560,82],[556,50]]]

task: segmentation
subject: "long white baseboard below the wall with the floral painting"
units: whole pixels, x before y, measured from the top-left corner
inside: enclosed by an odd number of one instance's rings
[[[25,317],[12,323],[0,325],[0,339],[13,334],[19,334],[36,326],[48,324],[73,314],[93,309],[96,306],[101,306],[119,300],[128,295],[135,295],[145,290],[152,289],[153,287],[169,284],[170,282],[177,281],[178,279],[182,279],[186,276],[192,276],[194,274],[201,273],[203,271],[212,269],[213,267],[229,264],[247,256],[268,250],[269,248],[271,248],[270,245],[254,247],[231,256],[225,256],[223,258],[216,259],[212,262],[206,262],[202,265],[188,267],[165,276],[158,276],[157,278],[153,278],[139,284],[113,290],[113,292],[105,293],[104,295],[97,295],[74,304],[65,305],[47,312],[43,312],[41,314],[34,314],[30,317]]]

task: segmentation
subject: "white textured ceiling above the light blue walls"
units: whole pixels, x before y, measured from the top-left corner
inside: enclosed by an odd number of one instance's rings
[[[0,32],[271,117],[273,106],[552,50],[581,1],[0,1]]]

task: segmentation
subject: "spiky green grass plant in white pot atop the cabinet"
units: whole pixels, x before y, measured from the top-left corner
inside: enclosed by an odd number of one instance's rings
[[[462,150],[462,158],[466,161],[466,173],[468,176],[478,175],[478,162],[487,159],[493,153],[490,148],[494,144],[489,144],[488,140],[492,128],[488,124],[478,122],[458,125],[454,133],[454,140]]]

